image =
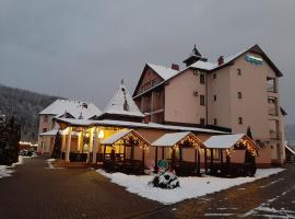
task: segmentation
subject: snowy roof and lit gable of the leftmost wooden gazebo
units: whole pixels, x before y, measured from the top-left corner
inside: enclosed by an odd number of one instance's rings
[[[119,141],[130,141],[130,139],[134,141],[134,145],[140,143],[145,147],[149,147],[151,145],[145,138],[143,138],[139,132],[133,129],[119,130],[109,138],[105,139],[102,145],[113,146]]]

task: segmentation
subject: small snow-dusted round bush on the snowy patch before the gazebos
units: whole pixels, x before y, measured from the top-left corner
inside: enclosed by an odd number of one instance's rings
[[[173,172],[160,172],[153,181],[149,183],[150,186],[165,189],[173,189],[179,187],[179,181]]]

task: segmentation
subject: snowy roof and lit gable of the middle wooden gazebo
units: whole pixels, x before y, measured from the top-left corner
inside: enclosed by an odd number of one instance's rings
[[[202,141],[190,131],[165,134],[164,136],[155,140],[152,143],[152,146],[154,147],[191,146],[194,148],[204,148]]]

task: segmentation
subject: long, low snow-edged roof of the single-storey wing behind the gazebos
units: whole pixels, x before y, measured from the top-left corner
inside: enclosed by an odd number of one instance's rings
[[[133,123],[133,122],[125,122],[125,120],[110,120],[110,119],[102,119],[102,120],[86,120],[86,119],[73,119],[73,118],[59,118],[58,122],[63,122],[70,124],[72,126],[121,126],[129,128],[154,128],[154,129],[166,129],[166,130],[176,130],[176,131],[196,131],[196,132],[210,132],[210,134],[228,134],[225,131],[206,129],[206,128],[193,128],[186,126],[172,126],[172,125],[163,125],[156,123]]]

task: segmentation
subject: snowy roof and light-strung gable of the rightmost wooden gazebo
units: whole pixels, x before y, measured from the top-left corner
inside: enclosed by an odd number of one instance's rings
[[[212,136],[204,146],[208,149],[247,149],[257,155],[260,148],[245,134]]]

